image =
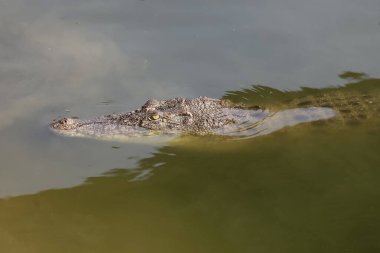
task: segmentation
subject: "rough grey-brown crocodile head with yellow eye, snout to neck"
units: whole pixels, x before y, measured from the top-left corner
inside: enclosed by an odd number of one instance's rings
[[[63,118],[53,121],[51,129],[70,136],[140,136],[154,133],[192,133],[203,135],[212,129],[235,122],[218,99],[199,97],[148,100],[140,109],[114,113],[91,120]]]

